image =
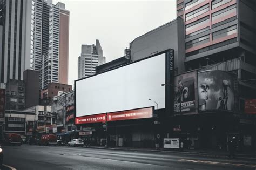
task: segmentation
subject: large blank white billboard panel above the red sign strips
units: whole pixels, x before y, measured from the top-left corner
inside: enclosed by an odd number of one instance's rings
[[[76,81],[76,117],[165,108],[165,53]],[[151,98],[151,100],[149,100]]]

